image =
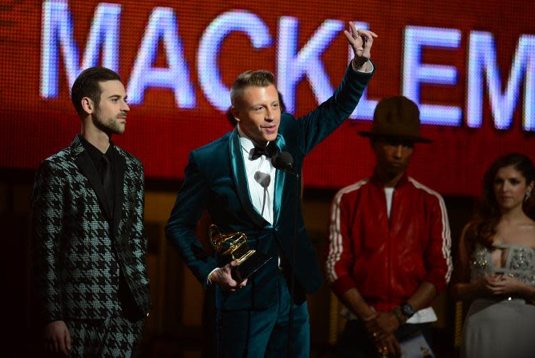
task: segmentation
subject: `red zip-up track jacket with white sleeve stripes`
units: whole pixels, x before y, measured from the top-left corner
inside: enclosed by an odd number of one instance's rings
[[[391,311],[426,281],[444,289],[451,276],[444,200],[405,174],[392,195],[374,174],[341,189],[332,202],[325,269],[336,295],[356,287],[377,311]]]

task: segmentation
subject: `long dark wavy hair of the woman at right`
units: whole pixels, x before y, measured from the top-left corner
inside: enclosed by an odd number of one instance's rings
[[[467,229],[467,238],[492,247],[496,226],[502,216],[494,195],[494,181],[498,170],[512,166],[526,179],[526,185],[535,180],[535,168],[532,160],[524,154],[511,153],[500,156],[490,165],[483,176],[483,195],[479,200],[472,225]],[[529,218],[535,220],[535,195],[531,195],[522,204],[522,210]]]

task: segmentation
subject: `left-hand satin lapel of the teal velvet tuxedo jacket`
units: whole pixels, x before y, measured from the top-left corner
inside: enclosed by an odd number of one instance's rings
[[[247,177],[245,177],[245,164],[243,163],[242,146],[240,145],[240,134],[238,134],[238,127],[234,129],[231,136],[228,137],[228,155],[231,161],[231,172],[233,176],[236,194],[240,198],[242,208],[249,215],[249,218],[259,227],[270,225],[265,219],[254,209],[249,195],[249,185],[247,184]]]

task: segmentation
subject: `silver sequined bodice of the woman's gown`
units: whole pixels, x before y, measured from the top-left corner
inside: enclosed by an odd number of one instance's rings
[[[470,260],[472,282],[486,274],[502,274],[535,286],[535,250],[532,247],[512,244],[494,245],[494,247],[502,250],[509,249],[504,267],[495,267],[490,250],[476,243]]]

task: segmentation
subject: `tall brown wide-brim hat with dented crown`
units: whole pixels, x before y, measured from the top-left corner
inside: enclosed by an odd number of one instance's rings
[[[379,101],[373,113],[371,131],[359,131],[369,138],[407,140],[431,143],[433,140],[420,136],[420,111],[418,106],[403,96],[387,97]]]

